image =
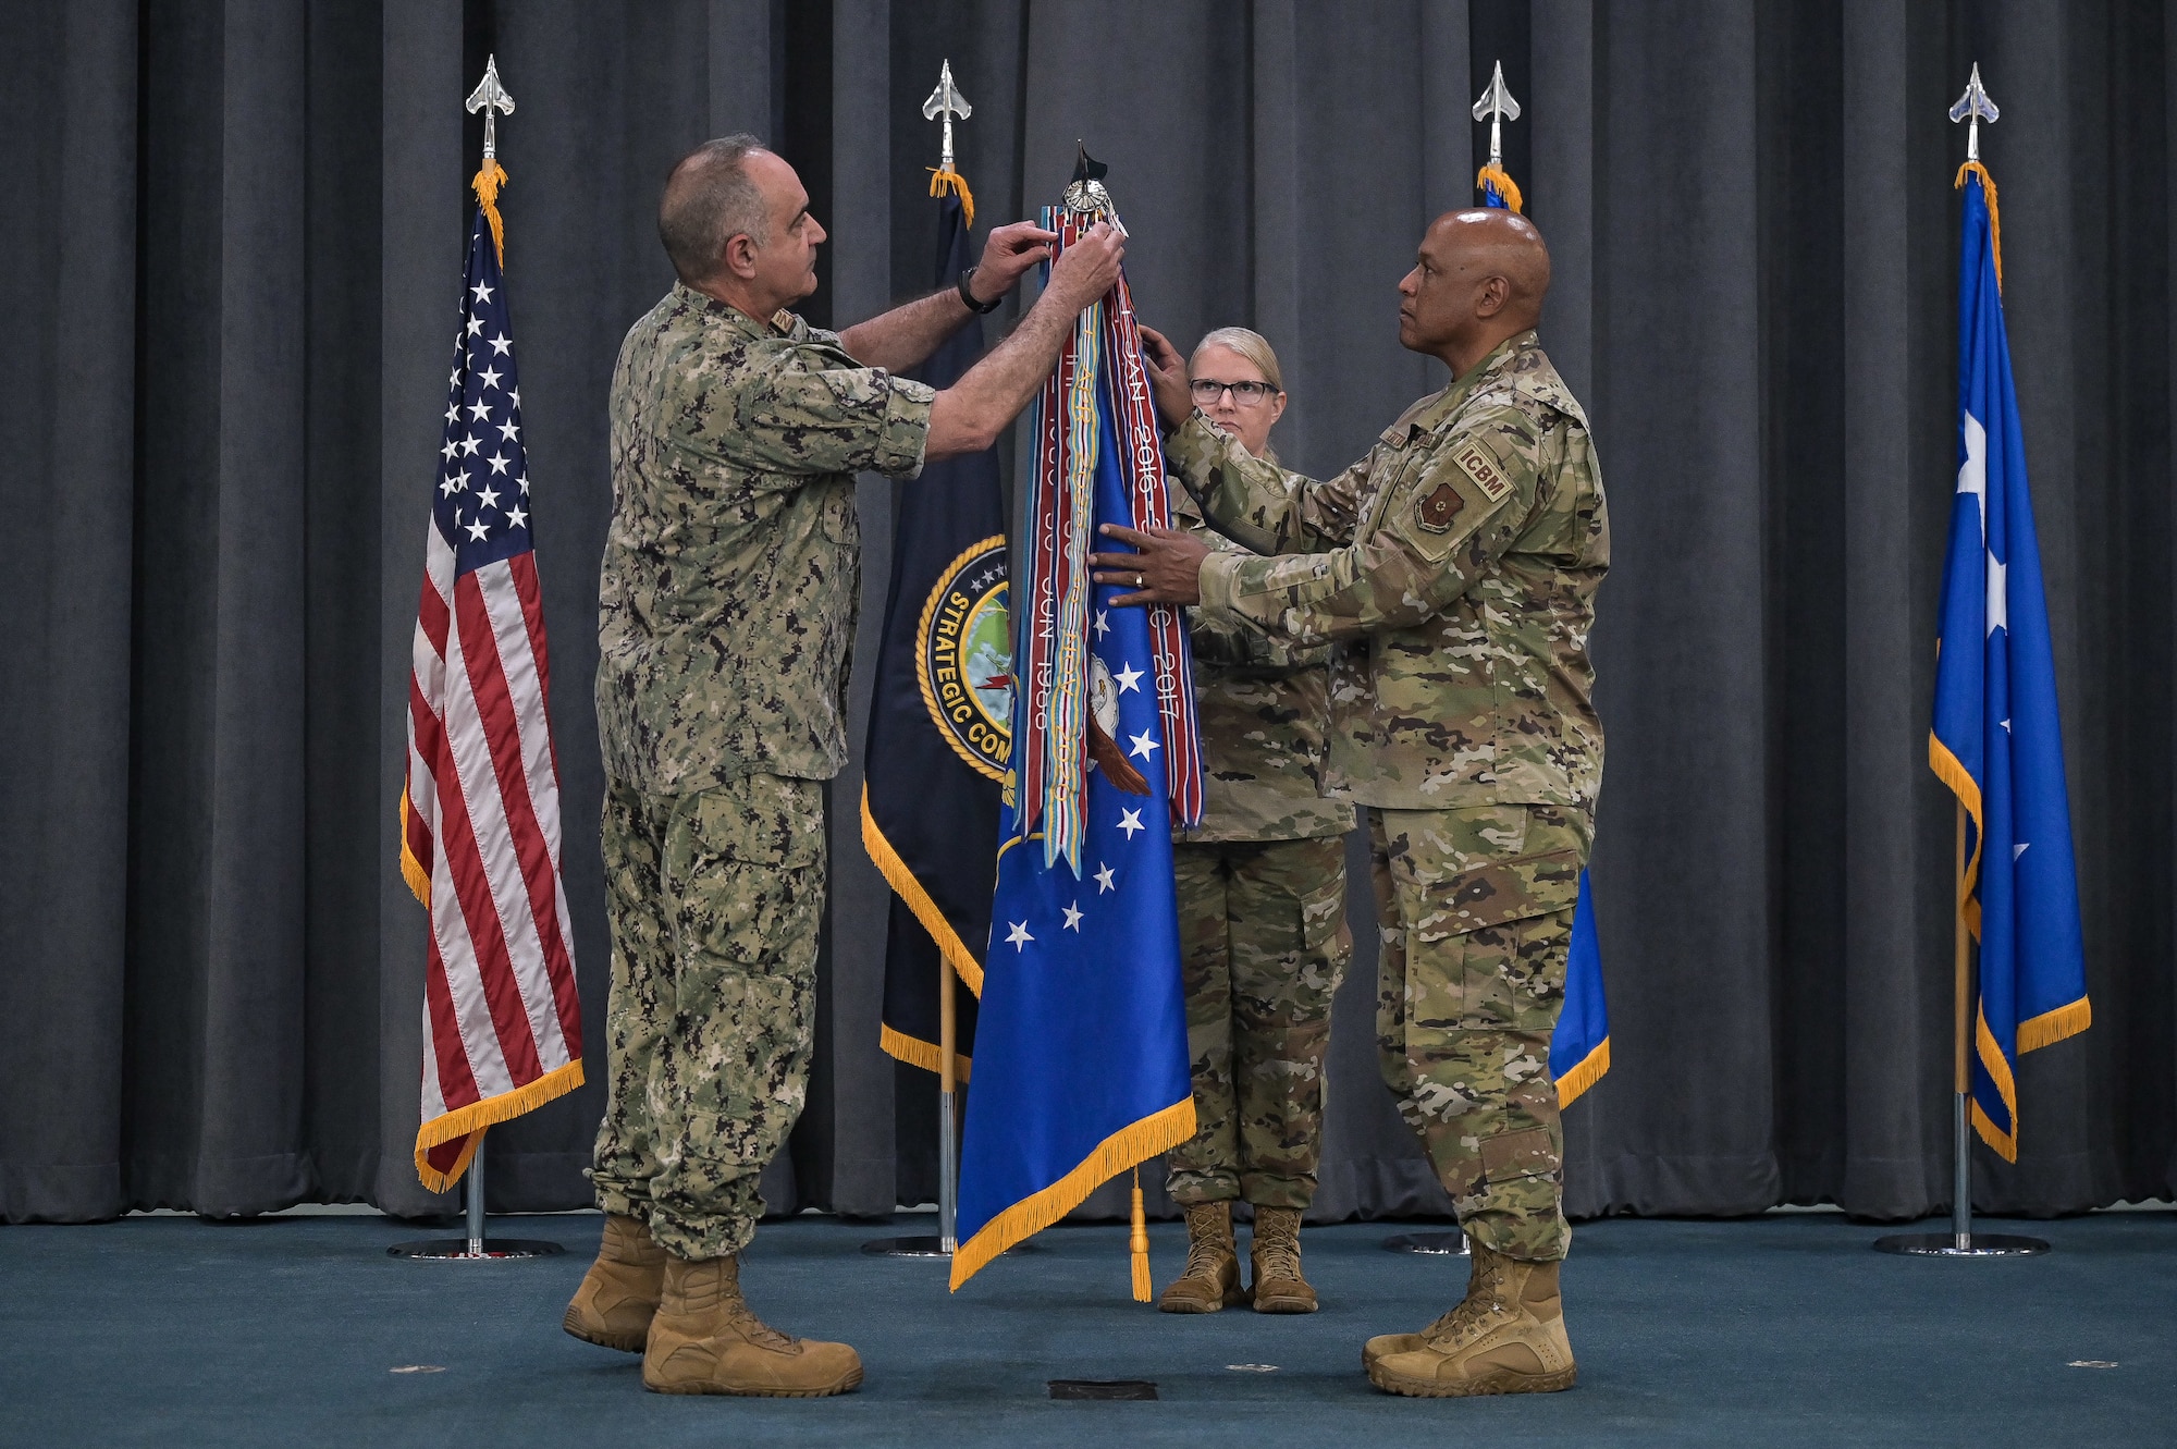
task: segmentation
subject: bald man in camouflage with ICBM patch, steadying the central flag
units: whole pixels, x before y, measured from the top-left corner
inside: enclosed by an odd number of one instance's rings
[[[1550,263],[1509,211],[1454,211],[1400,283],[1400,342],[1452,383],[1365,459],[1315,481],[1250,457],[1186,398],[1147,333],[1173,470],[1260,555],[1106,529],[1126,603],[1200,603],[1271,637],[1330,642],[1324,792],[1369,807],[1385,933],[1382,1075],[1474,1249],[1467,1297],[1369,1340],[1378,1388],[1570,1388],[1559,1308],[1563,1131],[1550,1033],[1594,838],[1602,725],[1587,633],[1609,568],[1587,416],[1535,337]]]

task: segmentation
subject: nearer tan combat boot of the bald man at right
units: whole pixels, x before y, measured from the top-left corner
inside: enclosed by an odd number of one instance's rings
[[[1578,1369],[1565,1340],[1557,1264],[1472,1242],[1467,1297],[1419,1334],[1385,1334],[1361,1351],[1369,1384],[1409,1399],[1548,1395]]]

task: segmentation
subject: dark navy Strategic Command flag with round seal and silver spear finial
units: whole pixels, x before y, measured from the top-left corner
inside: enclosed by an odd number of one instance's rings
[[[936,198],[936,285],[969,265],[975,198],[954,170],[951,124],[973,109],[951,61],[923,115],[945,120]],[[949,387],[982,355],[967,326],[917,376]],[[893,886],[877,1044],[938,1073],[938,1236],[862,1244],[871,1253],[954,1251],[956,1083],[975,1053],[975,996],[991,940],[997,783],[1012,753],[1012,633],[1006,611],[1006,505],[997,448],[923,468],[914,507],[893,511],[893,583],[862,755],[862,844]],[[954,977],[967,981],[964,999]],[[934,990],[932,990],[934,988]]]

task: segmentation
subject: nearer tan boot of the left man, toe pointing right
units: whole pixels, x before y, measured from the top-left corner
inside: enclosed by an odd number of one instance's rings
[[[862,1382],[842,1342],[788,1338],[740,1297],[740,1258],[666,1260],[664,1299],[642,1353],[642,1386],[662,1395],[823,1399]]]

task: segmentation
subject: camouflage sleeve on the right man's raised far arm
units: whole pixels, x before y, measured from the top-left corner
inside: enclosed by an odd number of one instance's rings
[[[1315,553],[1352,540],[1369,468],[1363,459],[1335,479],[1317,481],[1254,457],[1200,411],[1165,439],[1165,461],[1213,529],[1265,557]]]

